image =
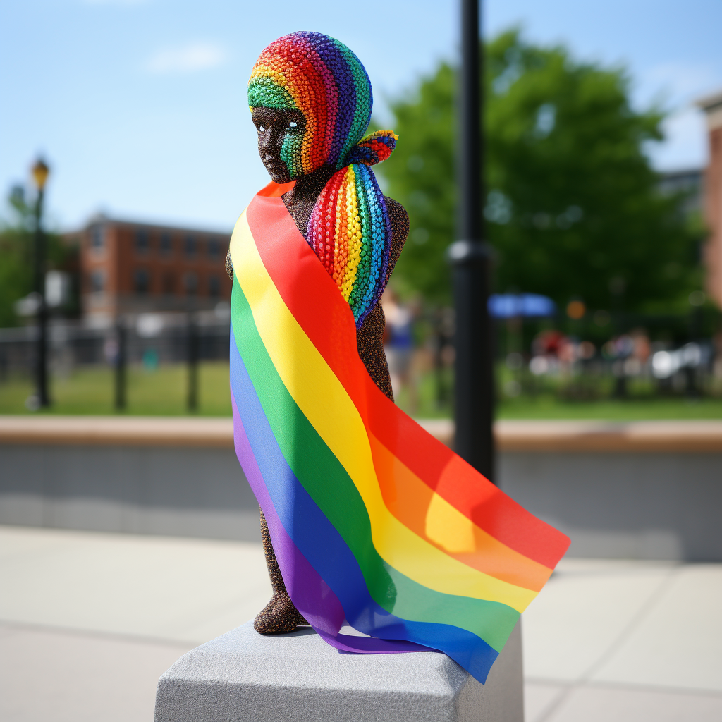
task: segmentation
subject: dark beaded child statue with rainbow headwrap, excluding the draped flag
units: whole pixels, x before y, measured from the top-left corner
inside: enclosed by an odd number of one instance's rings
[[[248,83],[258,155],[271,181],[295,181],[283,202],[351,306],[359,356],[393,401],[380,297],[404,247],[409,215],[398,201],[383,196],[370,168],[386,160],[396,144],[390,131],[363,137],[372,103],[371,84],[358,58],[318,32],[275,40],[261,53]],[[331,233],[326,232],[329,222]],[[349,235],[351,227],[357,228],[355,235]],[[352,274],[354,253],[360,261]],[[380,261],[376,272],[373,254]],[[230,251],[226,270],[232,279]],[[273,596],[253,627],[262,634],[292,632],[308,622],[288,596],[262,510],[261,539]]]

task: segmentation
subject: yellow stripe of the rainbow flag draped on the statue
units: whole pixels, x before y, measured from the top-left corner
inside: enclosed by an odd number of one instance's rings
[[[402,574],[440,593],[497,601],[523,612],[536,592],[450,557],[404,526],[386,508],[360,414],[285,305],[261,261],[245,212],[233,230],[230,252],[266,351],[296,404],[355,484],[370,517],[373,544],[380,556]],[[439,517],[434,516],[438,521]],[[433,526],[435,538],[442,539],[442,525]],[[448,546],[456,544],[458,535],[448,530]]]

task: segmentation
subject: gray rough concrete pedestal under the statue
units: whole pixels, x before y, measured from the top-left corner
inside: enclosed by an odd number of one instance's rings
[[[248,622],[160,677],[155,722],[523,722],[522,678],[521,624],[479,684],[438,652],[344,654]]]

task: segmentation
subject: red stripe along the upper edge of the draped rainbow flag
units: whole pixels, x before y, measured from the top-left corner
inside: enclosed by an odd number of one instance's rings
[[[422,429],[368,375],[358,355],[351,309],[280,197],[291,187],[266,186],[248,206],[248,225],[284,303],[346,389],[367,429],[477,526],[553,569],[569,547],[568,537],[518,505]],[[297,243],[287,243],[294,236]]]

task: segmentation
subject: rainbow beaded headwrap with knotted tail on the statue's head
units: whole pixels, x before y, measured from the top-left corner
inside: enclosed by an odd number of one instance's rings
[[[360,326],[386,286],[391,251],[386,201],[370,166],[396,146],[391,131],[364,136],[373,105],[364,66],[328,35],[285,35],[253,66],[248,105],[303,113],[305,131],[287,134],[281,149],[291,178],[323,165],[336,169],[313,207],[306,240]]]

